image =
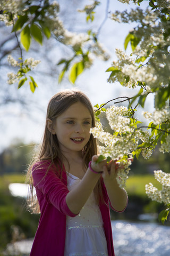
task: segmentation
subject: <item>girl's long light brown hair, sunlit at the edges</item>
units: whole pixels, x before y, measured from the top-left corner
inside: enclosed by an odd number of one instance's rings
[[[84,106],[87,107],[91,114],[92,127],[95,127],[94,109],[91,105],[91,102],[88,97],[79,90],[63,90],[55,94],[48,103],[46,119],[49,118],[55,122],[58,116],[64,113],[67,108],[76,102],[81,102]],[[94,155],[97,155],[97,141],[91,134],[87,145],[85,148],[83,148],[83,165],[86,166],[86,168],[88,167],[88,163],[91,161],[91,157]],[[52,134],[52,132],[48,130],[47,125],[45,126],[44,137],[40,146],[39,153],[31,161],[26,177],[26,180],[29,183],[27,204],[33,213],[39,213],[39,204],[36,195],[33,194],[32,166],[36,162],[44,160],[48,160],[51,164],[54,165],[60,164],[61,167],[63,166],[63,155],[61,153],[56,134]],[[60,176],[60,173],[58,173],[58,176]],[[94,189],[94,193],[98,203],[100,199],[103,201],[100,180]]]

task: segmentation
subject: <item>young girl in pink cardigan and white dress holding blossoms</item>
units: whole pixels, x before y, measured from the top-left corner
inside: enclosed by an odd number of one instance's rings
[[[128,197],[116,182],[115,163],[96,163],[94,126],[82,92],[50,99],[40,153],[27,174],[32,210],[41,213],[30,256],[114,255],[109,202],[123,212]]]

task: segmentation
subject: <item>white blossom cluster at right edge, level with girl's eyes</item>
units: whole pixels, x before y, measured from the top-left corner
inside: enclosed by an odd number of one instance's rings
[[[160,123],[167,122],[167,120],[170,118],[170,109],[165,107],[163,109],[156,109],[153,113],[149,113],[148,111],[143,111],[142,115],[152,121],[155,125],[158,125]]]

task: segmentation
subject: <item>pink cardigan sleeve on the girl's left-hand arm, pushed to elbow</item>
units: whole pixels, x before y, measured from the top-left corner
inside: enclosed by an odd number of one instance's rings
[[[54,205],[58,211],[65,215],[75,217],[66,204],[66,195],[69,193],[67,186],[52,170],[49,164],[35,164],[32,168],[33,185],[43,193],[45,200]],[[46,174],[47,172],[47,174]]]

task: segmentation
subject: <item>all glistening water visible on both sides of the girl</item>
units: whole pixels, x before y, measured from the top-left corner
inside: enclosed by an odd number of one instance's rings
[[[16,191],[19,186],[11,185],[11,193],[26,196],[23,187]],[[170,256],[170,227],[150,222],[112,221],[112,230],[115,256]],[[33,239],[27,239],[8,244],[4,255],[27,256],[32,242]]]

